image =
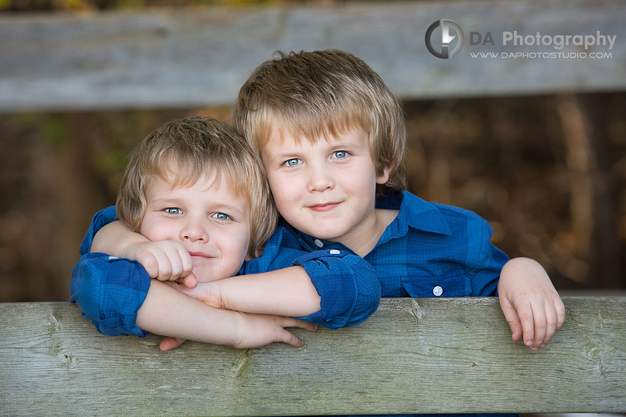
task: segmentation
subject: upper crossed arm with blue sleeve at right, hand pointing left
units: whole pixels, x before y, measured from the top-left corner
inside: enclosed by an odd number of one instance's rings
[[[376,311],[380,283],[361,257],[339,250],[277,250],[274,240],[262,257],[246,263],[245,275],[195,289],[170,285],[211,306],[292,316],[330,329],[356,326]]]

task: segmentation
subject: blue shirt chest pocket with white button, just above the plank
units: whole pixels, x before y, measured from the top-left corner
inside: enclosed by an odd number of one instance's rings
[[[411,275],[400,277],[410,297],[464,297],[471,292],[469,278],[459,272],[446,275]]]

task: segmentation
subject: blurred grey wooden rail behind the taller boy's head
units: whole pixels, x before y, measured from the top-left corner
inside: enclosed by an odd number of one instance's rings
[[[163,9],[0,16],[0,111],[230,105],[250,72],[280,50],[338,48],[365,59],[401,97],[626,90],[626,3],[511,0],[348,3],[331,7]],[[434,21],[464,31],[439,59]],[[469,32],[496,46],[469,44]],[[617,36],[593,46],[503,46],[518,34]],[[471,53],[590,53],[611,58],[472,58]]]

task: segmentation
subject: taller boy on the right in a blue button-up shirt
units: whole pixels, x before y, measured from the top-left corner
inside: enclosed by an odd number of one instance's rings
[[[563,303],[539,264],[508,260],[476,214],[404,190],[403,112],[361,59],[335,50],[281,53],[242,86],[232,123],[259,152],[285,235],[302,249],[363,257],[382,297],[499,294],[513,340],[523,336],[533,350],[562,326]],[[271,243],[252,263],[280,250]],[[239,279],[185,292],[245,311]]]

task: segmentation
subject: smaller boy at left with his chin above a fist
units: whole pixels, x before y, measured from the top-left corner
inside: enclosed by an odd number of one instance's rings
[[[174,250],[179,255],[168,258],[172,269],[193,269],[193,281],[200,283],[239,274],[277,221],[258,158],[227,123],[199,117],[172,121],[133,150],[116,207],[131,230],[153,241],[143,245],[148,253],[156,253],[151,247]],[[147,330],[243,348],[273,341],[302,346],[284,327],[316,329],[287,317],[214,309],[150,281],[134,261],[88,254],[74,269],[71,301],[111,335],[145,336]],[[300,306],[290,311],[319,310],[319,296],[310,281],[305,284],[290,283],[304,294],[290,300]],[[279,291],[273,285],[264,282]],[[198,314],[205,320],[188,319]]]

